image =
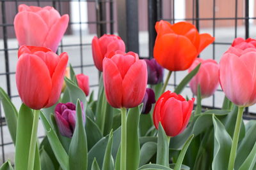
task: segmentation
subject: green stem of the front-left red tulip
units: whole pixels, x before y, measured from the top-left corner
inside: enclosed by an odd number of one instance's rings
[[[33,127],[31,132],[29,155],[28,155],[28,170],[34,169],[39,113],[40,113],[40,110],[34,111]]]

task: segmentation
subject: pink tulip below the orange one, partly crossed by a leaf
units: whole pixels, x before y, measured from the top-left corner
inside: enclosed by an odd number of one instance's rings
[[[189,86],[194,95],[197,95],[197,87],[200,85],[202,98],[210,97],[219,85],[219,65],[215,60],[203,60],[197,58],[188,71],[191,72],[201,63],[198,73],[189,82]]]

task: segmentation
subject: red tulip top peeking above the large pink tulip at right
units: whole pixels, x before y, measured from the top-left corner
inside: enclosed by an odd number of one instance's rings
[[[232,46],[241,50],[245,50],[246,48],[256,48],[256,39],[247,38],[245,40],[243,38],[236,38],[234,39]]]

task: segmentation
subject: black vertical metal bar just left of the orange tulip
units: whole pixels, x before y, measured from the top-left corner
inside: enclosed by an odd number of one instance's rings
[[[153,58],[154,45],[156,41],[156,29],[157,22],[157,1],[148,0],[148,52],[149,58]]]

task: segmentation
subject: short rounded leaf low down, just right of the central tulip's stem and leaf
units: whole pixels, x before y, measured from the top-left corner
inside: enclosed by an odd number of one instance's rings
[[[157,143],[150,141],[142,145],[140,150],[140,166],[147,164],[156,152]]]

